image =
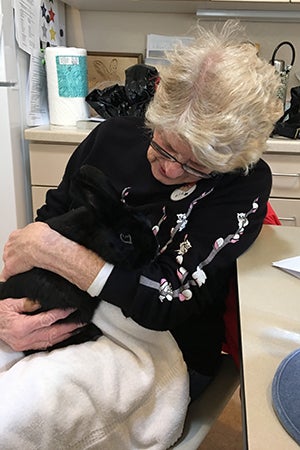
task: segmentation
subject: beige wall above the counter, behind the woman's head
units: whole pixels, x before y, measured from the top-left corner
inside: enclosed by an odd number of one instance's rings
[[[133,52],[145,55],[149,33],[186,35],[197,23],[194,14],[79,12],[67,7],[67,44],[83,46],[89,51]],[[211,22],[202,22],[210,27]],[[250,39],[260,44],[260,54],[271,59],[274,48],[285,40],[292,41],[296,59],[290,74],[289,87],[300,85],[295,73],[300,74],[300,23],[243,22]],[[278,59],[290,61],[290,51],[283,48]]]

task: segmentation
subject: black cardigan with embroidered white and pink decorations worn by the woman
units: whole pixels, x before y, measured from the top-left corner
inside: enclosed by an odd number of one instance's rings
[[[114,268],[100,297],[125,316],[155,330],[170,330],[187,365],[214,373],[224,339],[223,313],[235,261],[258,236],[266,214],[271,172],[260,160],[238,171],[200,180],[182,200],[180,186],[153,178],[146,158],[150,135],[140,119],[100,124],[71,156],[63,180],[47,193],[37,220],[71,208],[72,175],[83,164],[106,173],[125,201],[143,206],[158,230],[161,254],[142,269]],[[126,193],[126,195],[124,195]]]

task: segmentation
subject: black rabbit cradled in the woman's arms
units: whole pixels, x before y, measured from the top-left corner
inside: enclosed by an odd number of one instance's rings
[[[123,203],[99,169],[82,166],[72,179],[70,195],[80,206],[47,220],[51,228],[115,266],[137,268],[155,258],[158,244],[145,215]],[[76,308],[64,322],[88,325],[51,349],[101,335],[101,331],[90,323],[99,301],[55,273],[33,268],[12,276],[0,283],[0,299],[8,297],[28,297],[38,301],[41,309],[37,312]]]

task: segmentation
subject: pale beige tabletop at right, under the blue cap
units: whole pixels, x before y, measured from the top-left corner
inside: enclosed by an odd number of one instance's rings
[[[272,266],[299,256],[300,228],[264,225],[237,263],[248,450],[296,450],[272,407],[281,361],[299,348],[300,280]]]

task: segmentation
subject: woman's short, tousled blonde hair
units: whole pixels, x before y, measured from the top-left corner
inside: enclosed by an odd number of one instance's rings
[[[168,59],[147,125],[177,134],[213,171],[247,171],[282,114],[274,67],[257,56],[236,21],[220,31],[197,26],[193,43],[176,46]]]

